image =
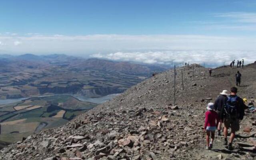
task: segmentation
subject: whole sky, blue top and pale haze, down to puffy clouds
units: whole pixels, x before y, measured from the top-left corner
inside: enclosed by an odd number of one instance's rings
[[[2,0],[0,24],[0,54],[256,50],[255,0]]]

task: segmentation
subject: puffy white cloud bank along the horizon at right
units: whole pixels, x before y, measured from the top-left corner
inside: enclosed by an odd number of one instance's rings
[[[244,59],[246,63],[256,60],[255,51],[245,50],[169,50],[157,52],[115,52],[110,54],[93,54],[94,58],[109,60],[134,61],[148,64],[181,64],[190,62],[220,66],[230,64],[233,59]]]

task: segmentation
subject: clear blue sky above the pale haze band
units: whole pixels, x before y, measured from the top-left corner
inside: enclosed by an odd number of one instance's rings
[[[218,16],[231,12],[256,14],[256,1],[2,0],[0,33],[251,35],[230,29],[252,25],[239,15]]]

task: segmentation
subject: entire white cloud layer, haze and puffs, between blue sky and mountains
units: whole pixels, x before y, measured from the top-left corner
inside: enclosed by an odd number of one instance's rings
[[[200,35],[0,36],[0,54],[62,53],[142,63],[206,63],[256,60],[256,38]]]

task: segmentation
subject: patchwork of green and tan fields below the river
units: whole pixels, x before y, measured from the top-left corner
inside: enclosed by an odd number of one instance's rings
[[[72,96],[30,98],[0,107],[0,141],[14,142],[46,128],[65,124],[96,106]]]

